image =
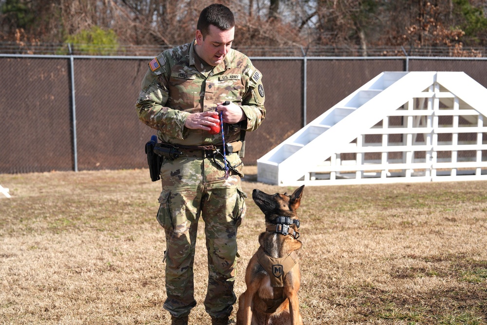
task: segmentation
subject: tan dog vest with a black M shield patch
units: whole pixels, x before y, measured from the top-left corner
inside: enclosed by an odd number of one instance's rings
[[[261,246],[257,250],[257,260],[267,274],[269,274],[271,286],[284,287],[284,278],[291,268],[296,265],[298,255],[296,251],[292,251],[284,257],[274,258],[267,255]]]

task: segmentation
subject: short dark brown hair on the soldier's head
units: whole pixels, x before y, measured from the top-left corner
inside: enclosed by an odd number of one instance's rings
[[[222,31],[235,26],[235,18],[230,9],[223,4],[213,3],[201,11],[196,28],[201,31],[203,38],[209,33],[209,26],[214,25]]]

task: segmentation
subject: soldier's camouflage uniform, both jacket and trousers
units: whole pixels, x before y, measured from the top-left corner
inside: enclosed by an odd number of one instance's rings
[[[253,131],[265,116],[262,75],[249,58],[231,49],[222,63],[209,67],[195,55],[195,42],[164,51],[150,61],[136,109],[139,118],[158,130],[162,142],[201,146],[223,145],[221,134],[187,129],[190,113],[214,111],[226,100],[240,105],[245,119],[240,126]],[[239,126],[224,125],[225,142],[240,139]],[[190,154],[189,154],[190,155]],[[227,155],[242,171],[239,153]],[[157,220],[166,233],[166,291],[164,307],[173,316],[186,316],[196,305],[193,296],[193,261],[196,230],[205,222],[208,251],[206,311],[215,318],[228,316],[236,302],[233,292],[237,229],[245,214],[241,180],[225,179],[222,155],[166,159],[161,168],[162,192]]]

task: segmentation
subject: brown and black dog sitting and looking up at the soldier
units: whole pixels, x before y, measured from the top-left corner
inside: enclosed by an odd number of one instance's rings
[[[237,325],[302,325],[298,290],[301,273],[296,251],[300,222],[296,210],[304,185],[293,194],[267,194],[259,190],[252,198],[265,215],[266,231],[259,235],[261,247],[248,262],[247,289],[239,298]]]

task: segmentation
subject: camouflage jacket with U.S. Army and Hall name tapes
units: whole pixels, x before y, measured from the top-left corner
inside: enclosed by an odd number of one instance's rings
[[[240,105],[246,118],[224,125],[225,141],[240,138],[241,127],[253,131],[265,117],[262,75],[244,54],[230,49],[222,63],[205,72],[194,42],[166,50],[152,59],[142,81],[136,110],[142,122],[158,130],[159,139],[183,145],[221,145],[221,134],[184,126],[191,113],[214,111],[226,100]]]

